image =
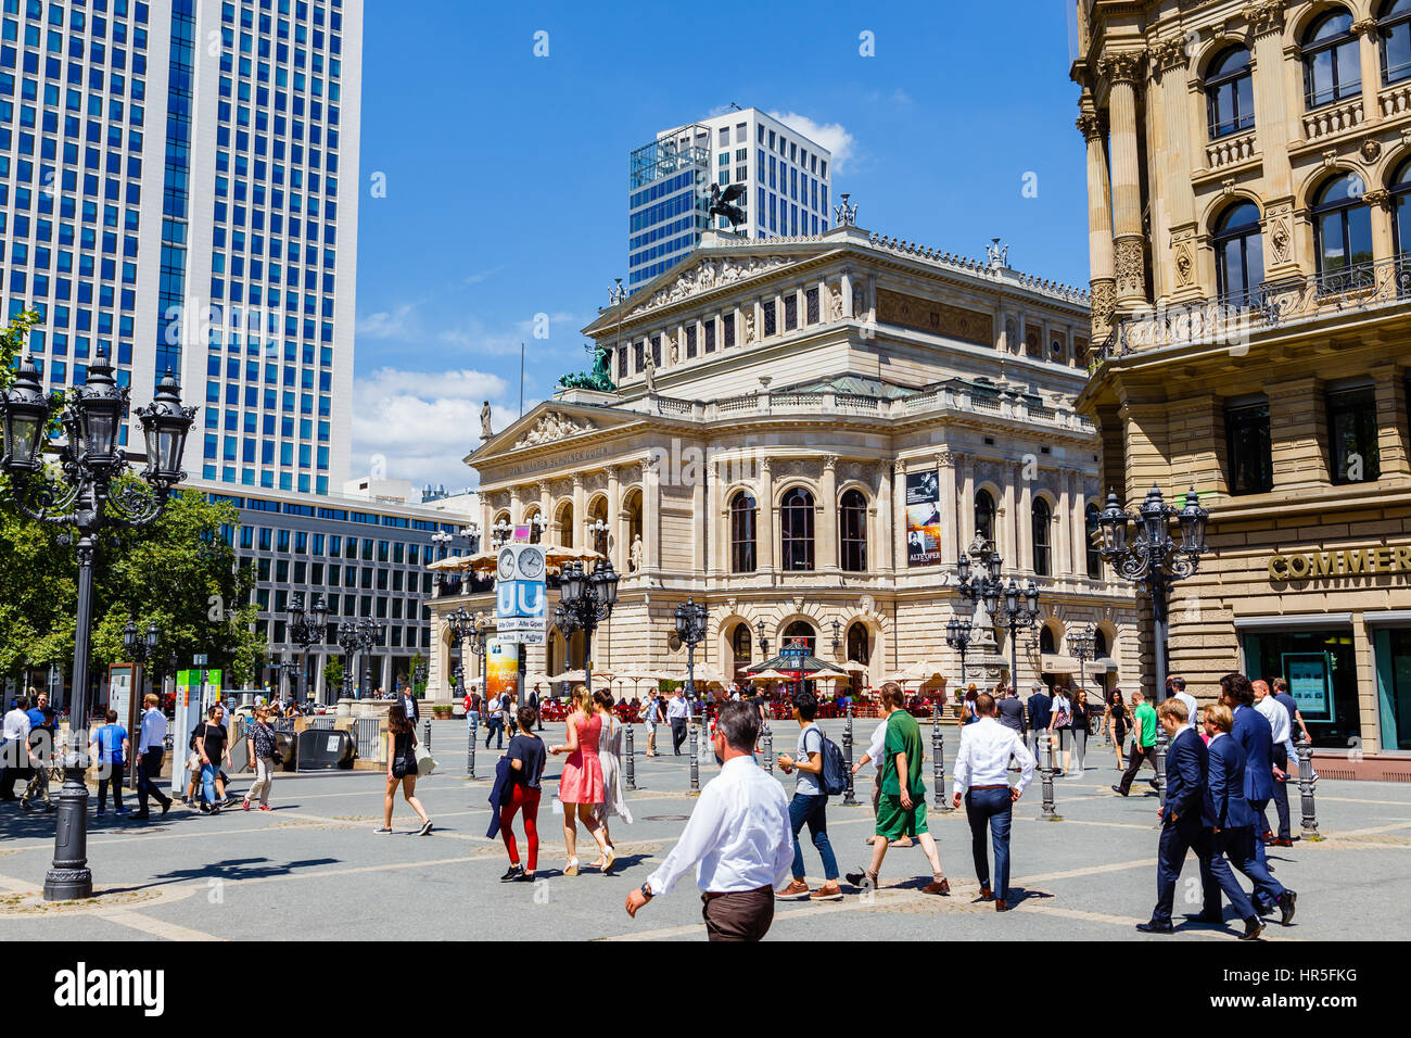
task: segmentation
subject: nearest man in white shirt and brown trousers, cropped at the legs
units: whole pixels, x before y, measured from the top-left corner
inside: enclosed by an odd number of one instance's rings
[[[711,941],[759,941],[775,918],[775,887],[793,864],[793,830],[783,787],[755,764],[759,715],[749,703],[725,703],[711,747],[720,774],[701,789],[682,837],[641,888],[626,895],[626,914],[670,893],[696,866],[701,915]]]

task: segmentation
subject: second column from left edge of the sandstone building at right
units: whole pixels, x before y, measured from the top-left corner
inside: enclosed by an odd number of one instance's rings
[[[1127,311],[1146,302],[1144,239],[1141,236],[1141,172],[1137,164],[1137,69],[1144,51],[1116,51],[1101,61],[1110,83],[1112,226],[1116,306]]]

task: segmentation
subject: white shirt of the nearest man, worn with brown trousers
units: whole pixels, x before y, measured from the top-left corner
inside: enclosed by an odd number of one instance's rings
[[[713,894],[779,887],[793,869],[789,799],[753,757],[725,761],[706,784],[682,839],[646,877],[653,895],[669,894],[696,866],[696,885]]]

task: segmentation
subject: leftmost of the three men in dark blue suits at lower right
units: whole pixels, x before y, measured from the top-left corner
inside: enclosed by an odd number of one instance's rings
[[[1149,922],[1139,922],[1144,933],[1171,933],[1171,905],[1175,901],[1175,881],[1181,878],[1185,852],[1195,849],[1201,861],[1201,891],[1205,914],[1219,914],[1221,895],[1209,869],[1209,849],[1202,808],[1205,804],[1206,754],[1205,743],[1187,723],[1185,703],[1167,699],[1157,708],[1157,720],[1171,739],[1165,757],[1165,806],[1161,818],[1161,842],[1157,847],[1156,908]]]

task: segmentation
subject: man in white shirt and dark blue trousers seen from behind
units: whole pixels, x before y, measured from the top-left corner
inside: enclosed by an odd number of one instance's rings
[[[955,758],[951,802],[965,801],[971,825],[971,850],[981,901],[993,898],[995,911],[1009,911],[1009,826],[1013,804],[1034,777],[1034,756],[1023,737],[995,720],[995,698],[981,692],[975,700],[979,720],[961,729],[961,750]],[[1019,761],[1019,782],[1009,784],[1009,760]],[[995,887],[989,885],[989,854],[985,852],[985,828],[995,845]]]

